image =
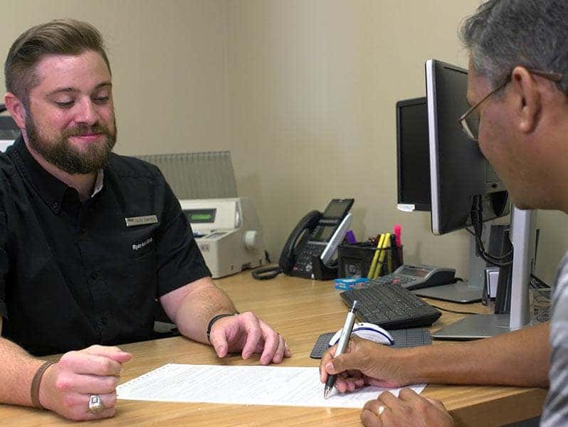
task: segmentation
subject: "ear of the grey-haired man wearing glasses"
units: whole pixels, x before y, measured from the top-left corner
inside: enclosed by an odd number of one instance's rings
[[[519,130],[523,133],[530,133],[537,127],[540,112],[542,110],[542,99],[540,97],[538,83],[525,67],[517,66],[511,73],[512,87],[517,97],[516,121]]]

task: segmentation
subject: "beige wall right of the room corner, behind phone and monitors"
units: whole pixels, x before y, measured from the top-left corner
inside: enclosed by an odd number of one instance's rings
[[[478,0],[228,5],[233,158],[270,252],[278,253],[305,211],[353,196],[359,238],[401,223],[406,262],[453,266],[467,276],[465,231],[433,236],[429,214],[395,209],[394,105],[424,96],[424,60],[466,66],[458,26]],[[564,214],[540,213],[540,224],[537,270],[550,281],[568,246],[557,232],[567,221]]]

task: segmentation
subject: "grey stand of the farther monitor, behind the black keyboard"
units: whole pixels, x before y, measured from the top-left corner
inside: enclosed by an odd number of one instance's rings
[[[481,238],[484,242],[489,241],[490,227],[483,227]],[[470,236],[469,251],[469,282],[456,282],[450,285],[431,286],[413,290],[414,295],[419,297],[432,298],[433,300],[458,302],[469,304],[470,302],[480,302],[483,295],[483,283],[485,280],[485,261],[475,255],[475,237]]]

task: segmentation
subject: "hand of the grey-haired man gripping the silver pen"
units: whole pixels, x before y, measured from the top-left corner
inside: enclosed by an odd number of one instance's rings
[[[357,336],[349,338],[345,353],[335,357],[336,347],[330,348],[320,362],[320,380],[327,381],[329,374],[339,374],[335,388],[341,393],[362,386],[399,387],[409,384],[404,369],[393,360],[400,352]]]

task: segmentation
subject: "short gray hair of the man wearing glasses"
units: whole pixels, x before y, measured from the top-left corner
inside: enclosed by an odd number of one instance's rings
[[[461,26],[473,69],[493,85],[517,65],[562,73],[568,93],[568,1],[489,0]]]

